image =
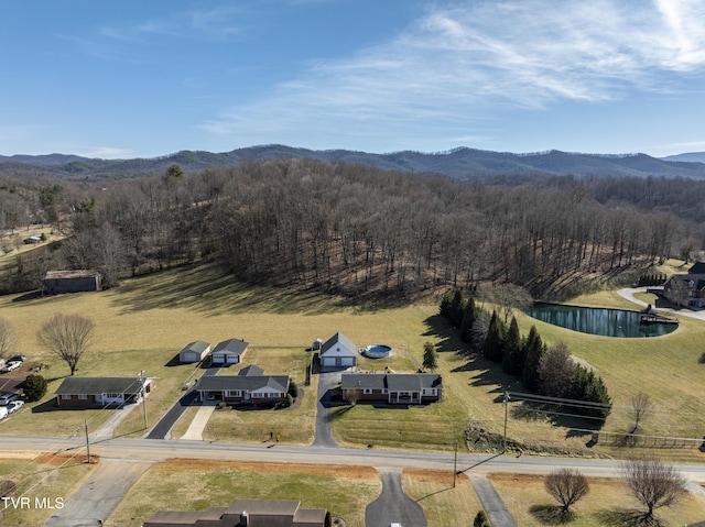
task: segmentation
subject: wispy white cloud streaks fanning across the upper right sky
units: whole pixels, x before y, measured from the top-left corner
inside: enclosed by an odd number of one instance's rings
[[[488,108],[673,94],[679,75],[704,68],[699,0],[458,2],[429,9],[355,56],[312,63],[267,98],[225,109],[202,128],[408,136],[410,123],[433,121],[447,138],[478,136]]]

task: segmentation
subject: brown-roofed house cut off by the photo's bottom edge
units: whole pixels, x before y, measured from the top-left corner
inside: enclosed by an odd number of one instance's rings
[[[236,499],[207,510],[160,510],[142,527],[324,527],[325,508],[301,508],[294,499]]]

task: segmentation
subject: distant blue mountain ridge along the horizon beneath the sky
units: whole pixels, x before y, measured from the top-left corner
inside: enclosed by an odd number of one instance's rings
[[[33,168],[66,178],[90,179],[160,173],[173,164],[181,165],[185,171],[203,171],[234,166],[242,160],[260,162],[279,157],[357,163],[384,169],[443,174],[459,179],[505,174],[705,178],[705,153],[680,154],[663,160],[646,154],[583,154],[556,150],[512,154],[468,147],[441,153],[403,151],[370,154],[349,150],[307,150],[280,144],[249,146],[224,153],[181,151],[162,157],[133,160],[99,160],[64,154],[0,155],[0,172]]]

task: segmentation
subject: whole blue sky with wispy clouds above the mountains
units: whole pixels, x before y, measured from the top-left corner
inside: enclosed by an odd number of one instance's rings
[[[0,154],[705,151],[702,0],[0,2]]]

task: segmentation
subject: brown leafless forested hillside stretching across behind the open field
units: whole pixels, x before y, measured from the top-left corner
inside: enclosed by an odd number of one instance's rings
[[[104,187],[22,174],[0,184],[0,227],[50,223],[68,238],[22,255],[2,289],[35,288],[47,268],[95,267],[117,285],[213,261],[247,282],[357,299],[498,283],[556,297],[693,257],[703,202],[705,183],[692,179],[468,183],[312,160],[172,165]]]

